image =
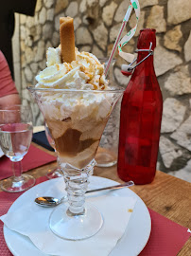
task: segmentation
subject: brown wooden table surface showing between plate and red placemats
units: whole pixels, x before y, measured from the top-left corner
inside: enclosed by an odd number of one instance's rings
[[[35,144],[35,146],[37,146]],[[43,149],[41,146],[39,148]],[[43,149],[43,151],[54,155],[54,153]],[[42,167],[28,171],[38,178],[47,173],[48,169],[53,169],[57,165],[56,162],[44,165]],[[94,175],[110,178],[117,182],[123,182],[116,173],[116,166],[110,168],[95,167]],[[184,180],[164,174],[157,171],[156,177],[151,184],[133,186],[130,188],[136,192],[146,203],[148,208],[155,210],[164,215],[166,218],[182,225],[189,227],[191,224],[191,183]],[[191,238],[182,247],[178,256],[191,255]]]

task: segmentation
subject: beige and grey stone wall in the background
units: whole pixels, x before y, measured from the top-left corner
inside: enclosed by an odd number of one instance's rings
[[[31,101],[26,86],[35,84],[35,75],[45,67],[46,48],[60,44],[60,16],[74,18],[78,49],[91,51],[102,58],[110,55],[129,2],[38,0],[34,17],[20,15],[20,93],[23,101]],[[191,2],[140,0],[140,5],[138,30],[156,28],[154,63],[164,97],[158,169],[191,181]],[[133,13],[127,30],[134,26],[134,19]],[[127,51],[133,52],[137,36],[138,31],[126,46]],[[120,73],[122,63],[124,61],[116,55],[114,79],[125,86],[128,80]],[[33,103],[32,107],[36,124],[42,124],[43,117],[38,106]]]

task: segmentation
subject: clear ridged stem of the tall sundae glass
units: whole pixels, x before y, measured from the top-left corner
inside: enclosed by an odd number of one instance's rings
[[[85,192],[89,184],[89,175],[93,174],[96,161],[93,160],[88,166],[82,170],[64,169],[64,180],[66,184],[66,192],[68,196],[69,208],[67,215],[77,216],[85,213]]]

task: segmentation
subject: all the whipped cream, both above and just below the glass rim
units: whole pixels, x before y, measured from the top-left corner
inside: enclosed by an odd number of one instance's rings
[[[67,89],[69,92],[43,92],[41,101],[45,119],[104,119],[109,116],[112,96],[104,93],[110,90],[109,82],[104,75],[104,65],[95,55],[79,52],[76,48],[76,61],[61,63],[59,46],[49,47],[46,58],[47,67],[36,76],[36,87]],[[80,90],[87,90],[87,93]],[[94,93],[94,90],[103,92]]]

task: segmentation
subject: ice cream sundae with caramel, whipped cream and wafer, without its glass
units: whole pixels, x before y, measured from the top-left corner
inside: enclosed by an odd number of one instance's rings
[[[39,106],[61,164],[82,169],[96,155],[113,109],[113,95],[107,93],[103,64],[75,47],[73,19],[61,18],[60,23],[61,46],[47,49],[47,67],[37,75],[35,87],[43,88]]]

